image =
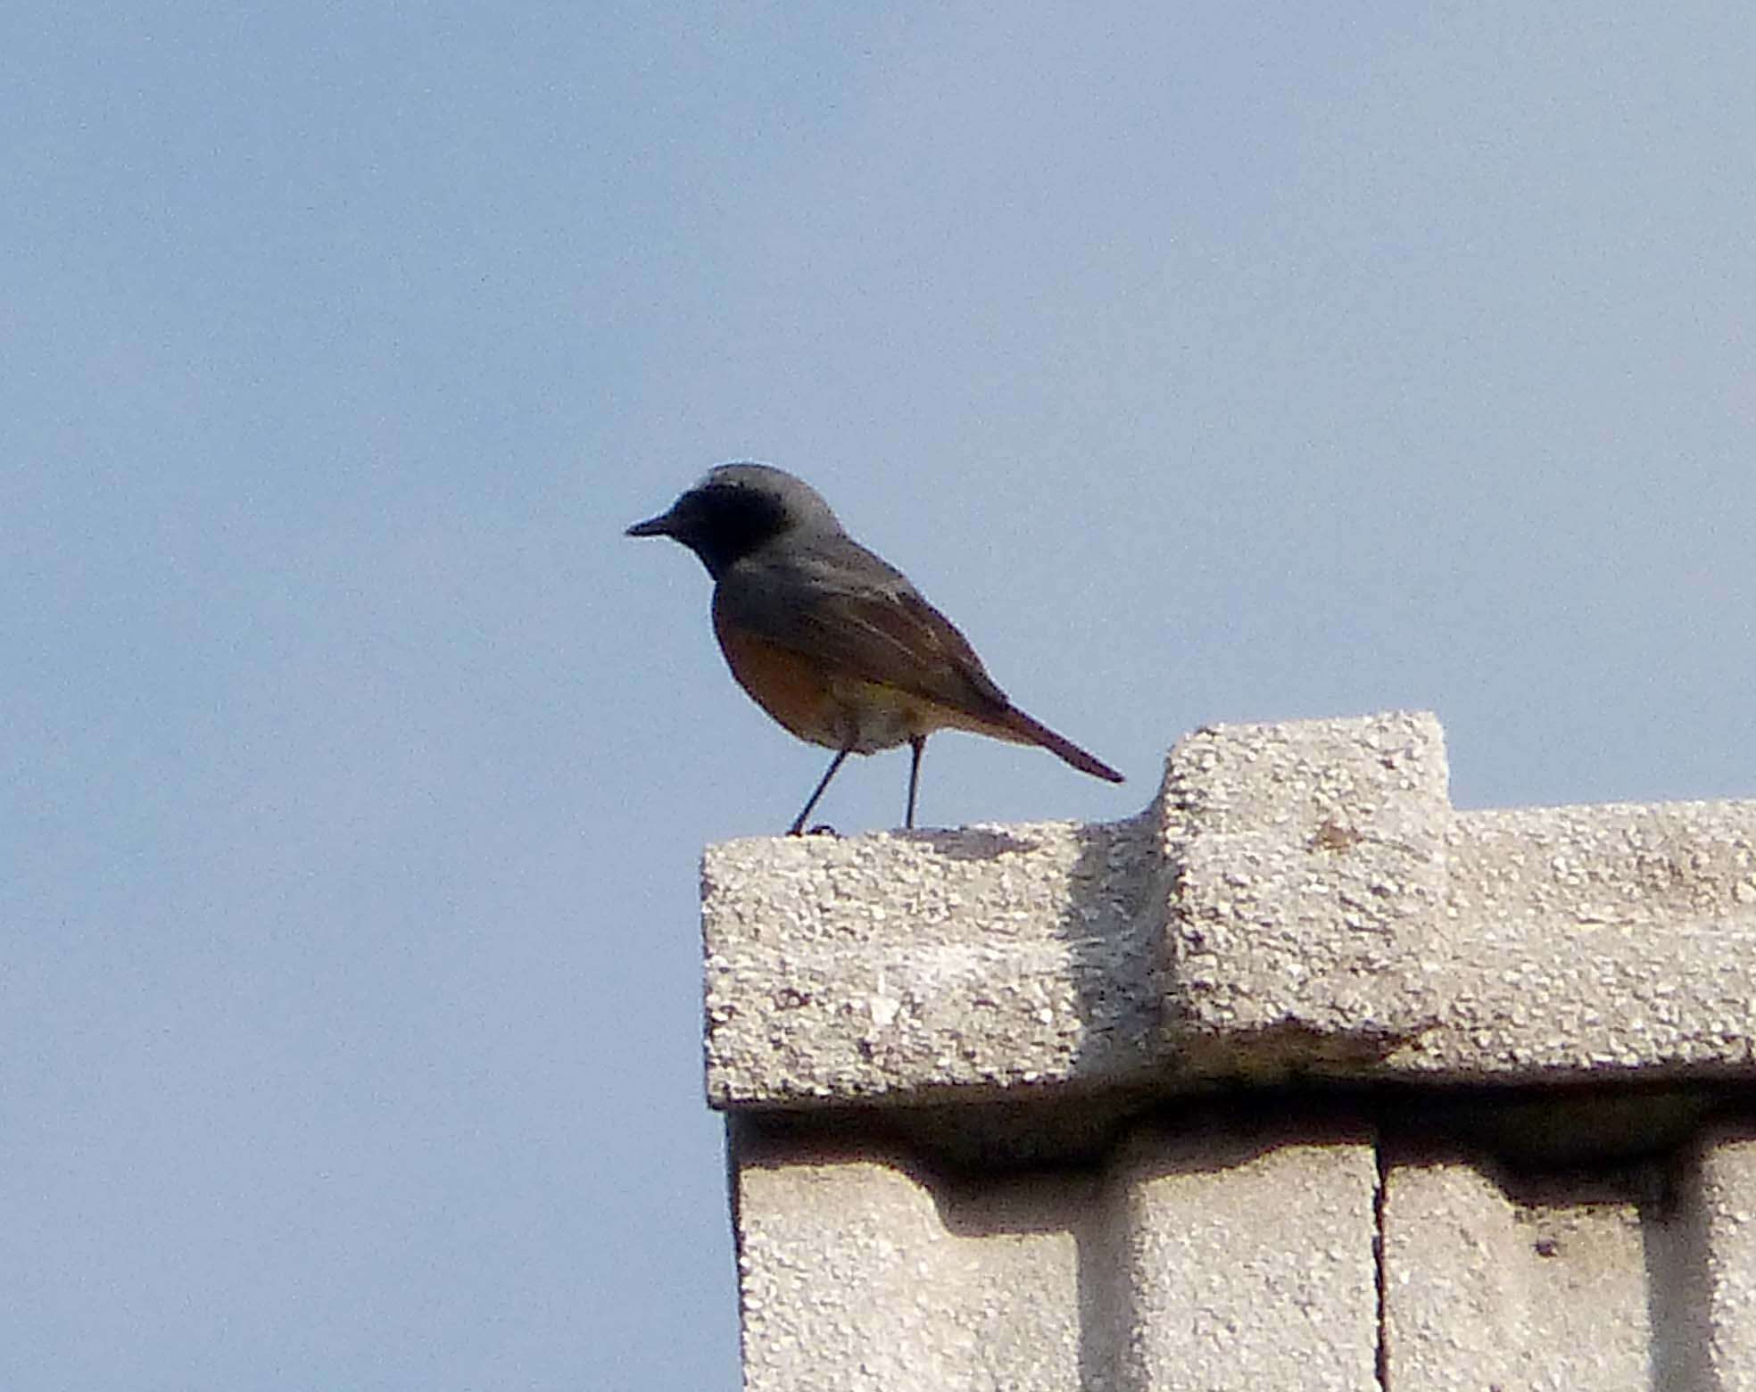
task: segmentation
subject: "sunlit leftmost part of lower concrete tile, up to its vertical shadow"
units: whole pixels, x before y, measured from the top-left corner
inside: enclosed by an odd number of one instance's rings
[[[753,1139],[736,1159],[746,1392],[1080,1385],[1078,1183],[959,1188]]]

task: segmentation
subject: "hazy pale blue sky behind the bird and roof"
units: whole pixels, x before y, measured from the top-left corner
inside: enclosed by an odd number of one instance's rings
[[[1463,806],[1756,793],[1737,5],[0,18],[0,1385],[732,1388],[708,465],[1113,788],[1438,711]],[[906,755],[822,814],[894,825]]]

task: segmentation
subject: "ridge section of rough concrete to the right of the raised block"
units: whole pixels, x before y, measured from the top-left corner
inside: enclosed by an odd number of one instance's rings
[[[1445,1009],[1389,1060],[1450,1078],[1756,1076],[1756,804],[1461,813]]]

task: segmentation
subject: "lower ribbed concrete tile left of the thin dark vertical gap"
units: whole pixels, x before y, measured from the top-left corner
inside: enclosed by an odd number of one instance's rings
[[[1370,1387],[1370,1136],[1147,1129],[989,1178],[738,1132],[748,1392]]]

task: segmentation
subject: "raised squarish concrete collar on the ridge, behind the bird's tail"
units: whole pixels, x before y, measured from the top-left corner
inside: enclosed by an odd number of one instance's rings
[[[1157,813],[1185,1067],[1347,1067],[1438,1018],[1452,811],[1433,716],[1199,730]]]

